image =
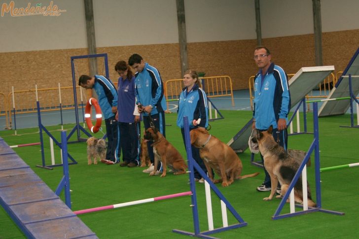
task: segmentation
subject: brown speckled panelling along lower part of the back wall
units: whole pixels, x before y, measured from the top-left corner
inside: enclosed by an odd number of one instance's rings
[[[273,62],[288,74],[315,66],[313,34],[266,38],[263,45],[271,50]],[[358,46],[359,30],[323,33],[324,65],[334,65],[335,72],[344,70]],[[255,47],[254,39],[188,43],[188,66],[205,72],[206,76],[229,75],[234,90],[248,89],[249,77],[258,70],[252,59]],[[109,75],[114,83],[118,78],[114,65],[119,60],[127,62],[133,53],[142,55],[145,62],[158,68],[164,81],[182,78],[177,43],[100,47],[97,52],[108,53]],[[0,53],[0,73],[4,76],[0,92],[7,96],[11,86],[15,90],[35,89],[35,84],[38,88],[52,88],[58,87],[58,82],[62,87],[72,86],[70,57],[86,54],[85,48]],[[99,60],[98,65],[99,74],[105,74],[103,61]],[[81,74],[89,74],[88,59],[75,60],[75,68],[77,85]],[[58,102],[57,91],[41,92],[39,97],[41,106]],[[32,99],[35,101],[34,93],[23,94],[15,102],[36,105]],[[62,99],[64,105],[72,104],[72,90],[64,90]]]

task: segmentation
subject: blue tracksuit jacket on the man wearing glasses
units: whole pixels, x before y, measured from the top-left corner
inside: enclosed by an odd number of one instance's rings
[[[261,70],[254,77],[255,128],[267,130],[271,125],[277,129],[278,119],[287,119],[290,110],[290,93],[286,72],[272,63],[265,75]]]

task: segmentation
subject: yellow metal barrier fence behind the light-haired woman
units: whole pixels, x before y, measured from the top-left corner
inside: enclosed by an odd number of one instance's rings
[[[203,90],[208,98],[230,96],[232,106],[234,106],[232,79],[228,75],[201,77]],[[167,80],[165,82],[164,94],[168,102],[178,101],[179,95],[183,89],[183,79]]]

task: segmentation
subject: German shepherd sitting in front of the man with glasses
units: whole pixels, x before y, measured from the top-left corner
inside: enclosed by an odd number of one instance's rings
[[[271,177],[272,190],[269,197],[263,199],[265,201],[272,200],[276,193],[278,180],[282,185],[282,193],[281,195],[278,195],[277,198],[283,197],[286,194],[289,184],[300,166],[300,162],[290,156],[286,150],[275,141],[274,137],[272,136],[272,130],[272,126],[270,126],[267,131],[261,132],[257,130],[256,136],[252,137],[251,139],[254,143],[258,143],[259,151],[263,155],[264,167]],[[300,176],[294,185],[294,200],[300,204],[303,203],[302,190],[302,179]],[[315,207],[316,203],[312,201],[308,182],[307,191],[308,206]]]

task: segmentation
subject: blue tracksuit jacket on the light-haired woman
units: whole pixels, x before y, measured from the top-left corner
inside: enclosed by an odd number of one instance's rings
[[[187,88],[183,88],[181,94],[179,95],[179,104],[178,104],[178,116],[177,116],[177,126],[183,128],[183,116],[188,117],[188,122],[191,125],[191,122],[195,119],[201,118],[201,122],[198,125],[199,127],[208,126],[208,104],[207,96],[204,90],[194,85],[190,92],[187,93]],[[193,126],[192,126],[193,127]]]

